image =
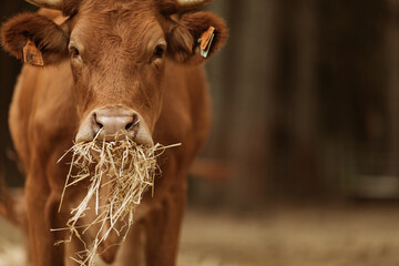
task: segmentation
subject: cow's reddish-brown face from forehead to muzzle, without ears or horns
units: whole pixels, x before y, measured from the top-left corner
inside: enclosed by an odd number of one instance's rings
[[[121,132],[152,144],[167,48],[161,19],[149,1],[83,2],[68,44],[81,116],[76,142]]]

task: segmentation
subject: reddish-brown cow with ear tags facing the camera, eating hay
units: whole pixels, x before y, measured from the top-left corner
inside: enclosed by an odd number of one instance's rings
[[[68,235],[51,229],[65,226],[86,188],[70,187],[59,213],[69,165],[57,162],[73,142],[115,132],[143,145],[182,146],[158,157],[162,177],[154,195],[145,194],[136,208],[126,241],[115,245],[110,237],[100,257],[115,265],[175,265],[185,175],[209,127],[203,63],[225,43],[225,22],[197,10],[212,0],[28,1],[41,9],[8,20],[1,42],[27,62],[14,86],[9,127],[25,174],[32,265],[75,265],[70,257],[82,250],[81,241],[55,246]],[[211,28],[205,57],[201,37]],[[27,61],[29,43],[39,62]]]

